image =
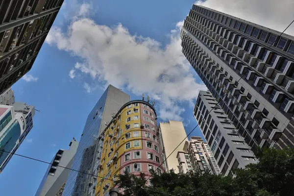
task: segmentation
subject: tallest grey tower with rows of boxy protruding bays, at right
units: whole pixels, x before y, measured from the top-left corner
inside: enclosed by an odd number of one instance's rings
[[[294,37],[280,34],[198,5],[181,30],[184,55],[254,151],[294,147]]]

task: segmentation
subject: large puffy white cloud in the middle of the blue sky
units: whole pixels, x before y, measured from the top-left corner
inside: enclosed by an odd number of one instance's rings
[[[187,10],[188,11],[188,10]],[[164,49],[151,38],[131,35],[123,25],[97,25],[88,18],[74,20],[67,33],[51,28],[46,42],[81,58],[76,72],[92,79],[126,88],[136,95],[145,93],[159,102],[164,120],[182,120],[183,101],[195,99],[204,84],[196,83],[195,72],[181,52],[179,36],[183,22],[171,31],[171,42]],[[93,89],[84,83],[86,91]]]

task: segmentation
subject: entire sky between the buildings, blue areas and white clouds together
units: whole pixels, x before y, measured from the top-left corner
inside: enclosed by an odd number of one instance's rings
[[[50,162],[79,140],[107,84],[131,99],[156,100],[160,121],[196,126],[193,106],[205,88],[181,53],[179,29],[195,0],[65,0],[31,71],[12,89],[35,105],[34,127],[17,153]],[[293,0],[206,0],[204,6],[283,31]],[[293,35],[294,25],[286,33]],[[201,135],[197,128],[192,135]],[[3,196],[32,196],[48,165],[13,156],[0,174]]]

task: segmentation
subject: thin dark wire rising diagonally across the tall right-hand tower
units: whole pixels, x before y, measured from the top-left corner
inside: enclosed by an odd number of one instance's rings
[[[294,20],[290,23],[290,25],[292,25],[294,23]],[[273,44],[275,44],[277,41],[278,41],[278,39],[280,38],[280,36],[288,29],[288,27],[290,26],[290,25],[288,25],[286,28],[285,28],[285,30],[275,39],[275,41],[273,42],[273,43],[271,43],[270,44],[270,47],[273,45]],[[266,47],[267,49],[270,49],[270,47]],[[199,58],[198,58],[199,59]],[[203,61],[201,61],[201,63],[203,63]],[[252,68],[252,66],[250,66],[250,68]],[[244,73],[244,74],[242,74],[242,76],[237,80],[237,82],[235,82],[235,84],[236,83],[238,83],[242,78],[243,78],[243,76],[245,75],[246,73]],[[186,138],[188,138],[189,137],[189,135],[196,129],[196,127],[204,120],[204,119],[206,119],[206,117],[209,115],[209,113],[213,110],[213,109],[215,109],[218,105],[219,105],[219,103],[221,102],[221,100],[223,100],[224,98],[225,98],[225,96],[232,90],[234,88],[234,86],[232,86],[232,88],[231,89],[228,89],[227,90],[227,92],[225,92],[225,95],[223,96],[223,97],[221,97],[220,96],[220,100],[218,101],[218,103],[214,106],[214,107],[212,107],[212,109],[207,113],[207,115],[205,115],[204,117],[203,117],[203,119],[199,122],[199,123],[197,123],[197,125],[189,132],[189,134],[182,140],[182,142],[180,142],[180,144],[177,146],[177,147],[179,147],[185,140],[186,140]],[[224,100],[223,100],[224,101]],[[172,155],[172,153],[176,150],[176,148],[177,147],[175,147],[174,148],[174,150],[172,150],[172,152],[171,152],[171,154],[159,165],[159,167]],[[158,167],[158,168],[159,168]],[[158,169],[157,168],[157,169]],[[157,169],[155,170],[155,172],[157,171]],[[150,176],[147,178],[147,180],[150,178]]]

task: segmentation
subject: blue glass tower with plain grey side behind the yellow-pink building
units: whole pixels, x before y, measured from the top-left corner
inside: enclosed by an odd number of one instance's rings
[[[88,196],[93,189],[95,192],[97,178],[94,175],[98,175],[96,169],[100,164],[100,159],[97,157],[101,155],[100,148],[103,147],[103,138],[99,135],[112,120],[113,115],[128,101],[130,96],[112,85],[107,87],[98,100],[87,118],[73,160],[72,169],[80,172],[70,172],[63,196]]]

